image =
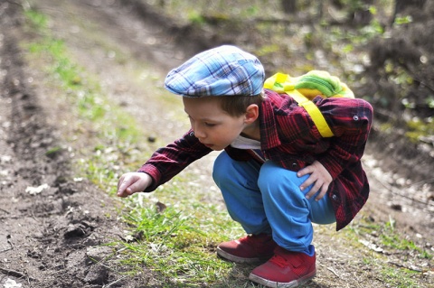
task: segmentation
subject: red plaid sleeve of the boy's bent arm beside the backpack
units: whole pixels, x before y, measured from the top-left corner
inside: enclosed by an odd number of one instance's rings
[[[328,98],[320,100],[318,107],[335,135],[330,147],[317,160],[333,179],[351,163],[360,161],[373,121],[373,107],[356,98]]]

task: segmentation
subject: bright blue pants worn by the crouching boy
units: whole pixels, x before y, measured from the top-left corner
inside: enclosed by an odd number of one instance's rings
[[[325,195],[319,201],[307,200],[301,183],[308,175],[284,169],[271,161],[260,165],[254,161],[234,161],[222,152],[212,172],[231,218],[239,222],[248,234],[267,233],[289,251],[313,254],[312,222],[330,224],[335,213]]]

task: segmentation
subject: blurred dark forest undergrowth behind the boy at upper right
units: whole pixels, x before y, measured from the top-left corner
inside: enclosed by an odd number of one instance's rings
[[[192,55],[233,43],[258,55],[268,76],[308,70],[339,76],[356,97],[373,104],[372,139],[378,140],[379,152],[422,178],[429,176],[434,163],[434,1],[125,1],[146,17],[155,14],[154,21],[170,29]]]

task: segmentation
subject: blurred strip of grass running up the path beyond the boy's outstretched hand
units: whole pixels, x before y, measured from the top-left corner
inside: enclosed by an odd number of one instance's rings
[[[136,160],[132,156],[137,154],[132,153],[137,150],[133,143],[139,143],[142,132],[137,129],[138,125],[132,116],[109,103],[99,86],[99,79],[71,60],[65,43],[52,37],[47,27],[47,16],[34,10],[27,10],[24,15],[28,29],[40,35],[26,45],[30,57],[42,57],[50,63],[45,72],[52,83],[57,83],[58,93],[76,115],[77,122],[74,125],[80,130],[91,130],[94,134],[93,143],[97,144],[81,148],[80,154],[85,157],[76,160],[80,173],[100,187],[109,186],[114,193],[119,169],[116,162],[119,158],[123,161]],[[57,148],[51,148],[47,154]]]

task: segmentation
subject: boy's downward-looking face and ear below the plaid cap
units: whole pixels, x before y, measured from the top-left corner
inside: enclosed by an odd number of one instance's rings
[[[222,150],[249,125],[246,116],[230,116],[216,97],[183,98],[194,135],[212,150]]]

